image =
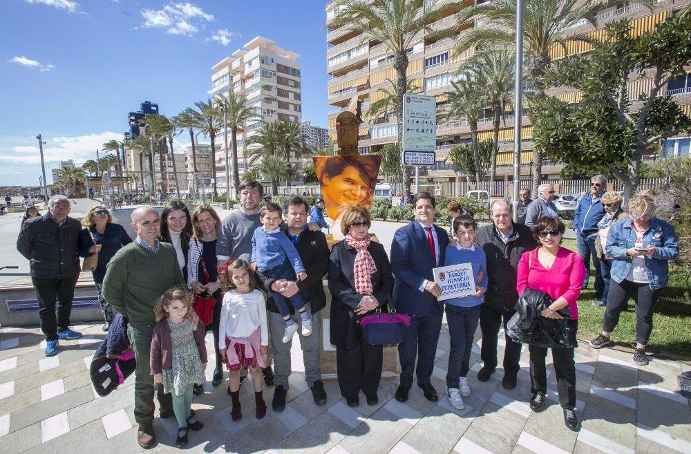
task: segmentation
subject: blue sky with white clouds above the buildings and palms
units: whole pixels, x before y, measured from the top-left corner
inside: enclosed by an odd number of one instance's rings
[[[172,116],[207,99],[211,66],[257,35],[301,54],[303,120],[326,126],[325,1],[2,3],[0,186],[38,185],[39,133],[50,182],[58,160],[121,140],[142,101]],[[176,150],[187,144],[180,135]]]

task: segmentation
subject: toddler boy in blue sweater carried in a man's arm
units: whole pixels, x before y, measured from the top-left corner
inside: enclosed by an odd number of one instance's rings
[[[266,202],[261,209],[259,221],[262,227],[257,227],[252,235],[252,269],[259,269],[269,278],[287,279],[294,281],[298,278],[304,281],[307,278],[307,272],[303,266],[300,256],[298,255],[295,245],[292,243],[283,231],[281,231],[281,216],[283,210],[281,207],[273,202]],[[312,334],[312,321],[310,314],[307,314],[305,308],[305,300],[296,293],[286,299],[281,292],[274,292],[272,294],[274,302],[281,312],[283,320],[285,320],[285,333],[283,334],[283,343],[290,342],[298,329],[290,316],[288,309],[288,301],[300,313],[302,320],[302,335],[309,336]]]

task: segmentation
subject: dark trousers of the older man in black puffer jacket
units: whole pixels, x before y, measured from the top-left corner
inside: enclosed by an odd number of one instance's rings
[[[499,340],[499,327],[502,325],[504,319],[504,331],[507,329],[507,323],[515,314],[515,310],[504,311],[492,308],[489,305],[483,304],[480,310],[480,330],[482,330],[482,350],[480,358],[484,362],[484,367],[489,370],[497,368],[497,342]],[[511,340],[510,337],[504,336],[506,339],[506,346],[504,346],[504,373],[518,374],[520,365],[520,349],[521,344]]]

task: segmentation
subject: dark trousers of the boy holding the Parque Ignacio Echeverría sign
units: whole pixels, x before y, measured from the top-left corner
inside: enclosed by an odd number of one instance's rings
[[[451,337],[451,349],[448,352],[448,371],[446,372],[446,388],[458,388],[458,377],[466,377],[471,368],[471,350],[473,350],[473,336],[480,319],[482,304],[472,308],[464,308],[446,304],[446,323]]]

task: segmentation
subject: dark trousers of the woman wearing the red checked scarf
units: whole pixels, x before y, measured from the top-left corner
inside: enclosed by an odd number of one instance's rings
[[[312,334],[314,335],[314,333]],[[381,381],[384,350],[361,339],[354,348],[336,348],[336,372],[343,397],[357,397],[360,390],[366,395],[376,394]]]

